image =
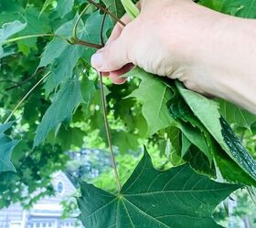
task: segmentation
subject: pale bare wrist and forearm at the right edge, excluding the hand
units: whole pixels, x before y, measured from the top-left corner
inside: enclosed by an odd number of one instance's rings
[[[256,21],[220,16],[198,49],[197,82],[210,95],[256,113]],[[196,66],[196,65],[195,65]]]

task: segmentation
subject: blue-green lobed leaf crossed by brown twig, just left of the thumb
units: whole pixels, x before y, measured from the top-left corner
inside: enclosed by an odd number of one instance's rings
[[[55,32],[59,36],[72,36],[73,26],[77,21],[77,17],[60,26]],[[99,12],[89,16],[86,24],[80,23],[79,37],[83,40],[100,44],[102,16]],[[103,35],[106,37],[106,31],[111,27],[110,19],[107,17],[104,26]],[[99,28],[98,30],[95,27]],[[54,88],[59,86],[63,80],[71,78],[73,75],[73,68],[77,65],[80,58],[85,58],[90,62],[91,55],[95,51],[90,47],[80,47],[69,45],[66,41],[54,38],[48,43],[42,54],[38,67],[47,67],[50,65],[52,74],[48,77],[46,90],[49,94]]]

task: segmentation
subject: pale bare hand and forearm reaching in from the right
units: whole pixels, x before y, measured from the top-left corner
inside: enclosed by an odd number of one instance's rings
[[[134,65],[256,114],[256,20],[226,16],[190,0],[143,0],[141,14],[114,27],[91,65],[113,83]]]

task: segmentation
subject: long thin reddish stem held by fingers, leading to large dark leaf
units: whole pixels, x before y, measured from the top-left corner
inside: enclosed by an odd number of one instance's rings
[[[103,17],[102,24],[101,24],[101,45],[102,46],[104,46],[104,40],[103,40],[102,32],[103,32],[103,27],[104,27],[104,23],[105,23],[105,18],[106,18],[106,14]],[[110,149],[111,157],[112,157],[112,168],[113,168],[114,176],[115,176],[115,179],[116,179],[117,188],[118,188],[118,191],[120,192],[121,191],[121,182],[120,182],[120,179],[119,179],[117,166],[116,166],[116,161],[115,161],[114,153],[113,153],[113,150],[112,150],[111,131],[110,131],[110,125],[109,125],[109,121],[108,121],[108,117],[107,117],[107,109],[106,109],[106,103],[107,102],[106,102],[106,98],[105,98],[105,94],[104,94],[103,78],[102,78],[102,73],[101,72],[100,72],[100,85],[101,85],[102,112],[103,112],[104,125],[105,125],[106,134],[107,134],[109,149]]]

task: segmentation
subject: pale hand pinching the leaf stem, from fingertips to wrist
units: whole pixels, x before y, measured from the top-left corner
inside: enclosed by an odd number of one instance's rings
[[[122,18],[128,25],[114,27],[106,47],[92,57],[92,66],[116,84],[123,83],[119,76],[136,65],[203,92],[191,71],[219,14],[190,0],[144,0],[139,6],[141,15],[133,22],[128,16]]]

